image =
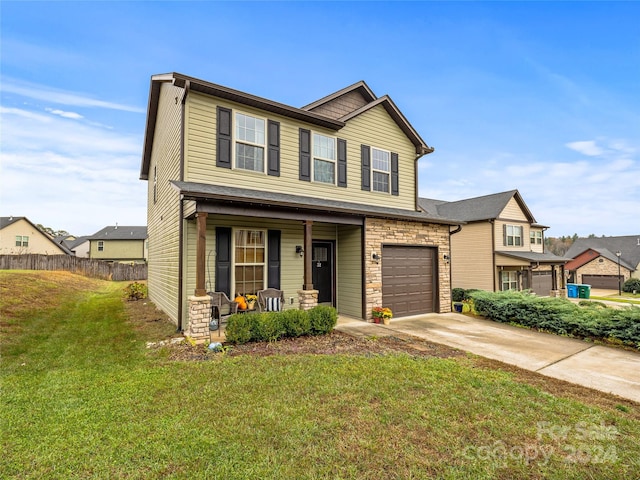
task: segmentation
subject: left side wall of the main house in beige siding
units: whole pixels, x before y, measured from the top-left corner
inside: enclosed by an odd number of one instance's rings
[[[180,179],[180,123],[183,90],[163,84],[149,166],[147,232],[149,235],[149,298],[176,324],[179,298],[180,198],[170,180]],[[157,167],[157,202],[153,201]],[[183,323],[186,323],[183,316]]]

